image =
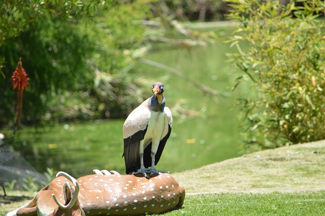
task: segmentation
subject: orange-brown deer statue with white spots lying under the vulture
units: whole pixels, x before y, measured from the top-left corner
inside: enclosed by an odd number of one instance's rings
[[[58,172],[32,200],[5,215],[159,214],[183,205],[185,189],[168,173],[149,179],[107,170],[94,173],[75,179]]]

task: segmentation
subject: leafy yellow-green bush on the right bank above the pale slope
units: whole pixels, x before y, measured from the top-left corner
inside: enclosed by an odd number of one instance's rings
[[[325,46],[322,1],[303,6],[280,1],[232,0],[234,64],[238,83],[251,81],[242,105],[244,139],[250,150],[324,139]],[[250,49],[243,50],[245,43]],[[238,85],[236,84],[236,86]]]

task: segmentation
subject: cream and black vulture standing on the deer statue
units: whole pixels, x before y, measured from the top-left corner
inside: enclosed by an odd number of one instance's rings
[[[152,84],[153,95],[136,107],[123,124],[122,157],[124,156],[126,174],[142,173],[150,178],[168,172],[155,169],[173,123],[171,110],[165,106],[164,91],[163,83]]]

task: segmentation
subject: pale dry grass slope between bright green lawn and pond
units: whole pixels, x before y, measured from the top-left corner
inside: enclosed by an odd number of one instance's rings
[[[325,140],[256,152],[174,173],[186,194],[325,190]],[[190,177],[191,176],[191,177]]]

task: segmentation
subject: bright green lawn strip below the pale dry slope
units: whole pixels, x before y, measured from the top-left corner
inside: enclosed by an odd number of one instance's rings
[[[191,195],[176,215],[324,215],[325,191],[310,193]]]

